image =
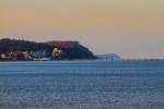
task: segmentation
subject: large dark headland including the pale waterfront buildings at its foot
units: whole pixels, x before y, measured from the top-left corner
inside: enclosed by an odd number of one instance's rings
[[[96,59],[92,51],[79,41],[0,39],[0,60],[74,60]]]

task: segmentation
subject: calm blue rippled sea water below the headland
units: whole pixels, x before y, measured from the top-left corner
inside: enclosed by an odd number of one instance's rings
[[[164,61],[0,62],[0,109],[164,109]]]

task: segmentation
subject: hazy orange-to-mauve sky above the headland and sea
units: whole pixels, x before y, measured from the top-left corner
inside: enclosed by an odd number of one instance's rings
[[[94,53],[164,57],[164,0],[0,0],[0,38],[79,40]]]

